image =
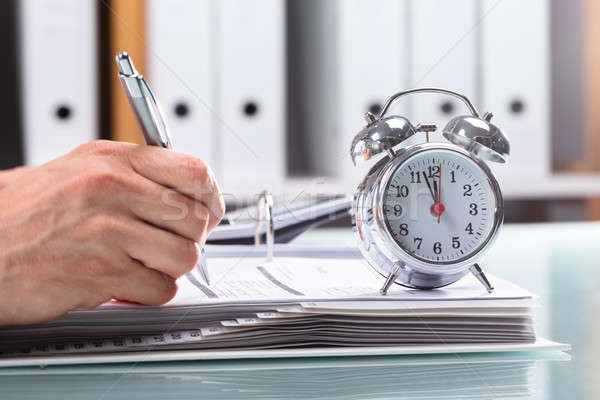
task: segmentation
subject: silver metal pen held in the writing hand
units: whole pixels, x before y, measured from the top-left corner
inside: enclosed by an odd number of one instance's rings
[[[123,85],[131,110],[144,135],[144,141],[150,146],[172,149],[173,145],[167,124],[150,85],[137,72],[129,54],[122,51],[117,54],[116,60],[119,66],[121,85]],[[198,247],[198,244],[196,246]],[[200,272],[206,284],[210,285],[204,249],[200,251],[200,260],[196,269]]]

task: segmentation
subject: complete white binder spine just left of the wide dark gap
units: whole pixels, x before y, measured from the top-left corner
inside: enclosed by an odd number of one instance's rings
[[[255,196],[285,179],[284,2],[220,0],[217,128],[226,193]]]

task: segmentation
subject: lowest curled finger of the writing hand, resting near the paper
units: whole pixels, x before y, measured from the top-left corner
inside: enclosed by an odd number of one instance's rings
[[[168,302],[177,293],[177,284],[172,277],[147,268],[139,261],[129,260],[124,275],[114,285],[115,299],[157,306]]]

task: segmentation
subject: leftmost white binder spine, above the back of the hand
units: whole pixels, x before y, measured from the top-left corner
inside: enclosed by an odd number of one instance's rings
[[[42,164],[98,136],[96,2],[22,0],[25,161]]]

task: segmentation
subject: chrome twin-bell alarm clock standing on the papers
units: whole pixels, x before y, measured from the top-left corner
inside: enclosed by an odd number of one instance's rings
[[[447,142],[429,141],[434,124],[385,116],[397,99],[421,92],[453,96],[468,107],[471,115],[454,117],[444,127]],[[506,162],[510,146],[491,118],[480,116],[466,96],[438,88],[396,93],[379,116],[367,113],[367,126],[352,141],[352,161],[379,159],[359,184],[351,215],[363,256],[386,278],[382,294],[392,283],[434,289],[469,272],[493,290],[480,263],[504,209],[486,163]],[[426,136],[423,143],[405,144],[418,133]]]

